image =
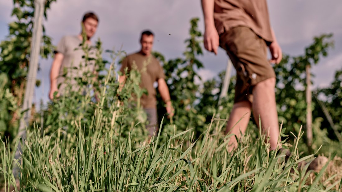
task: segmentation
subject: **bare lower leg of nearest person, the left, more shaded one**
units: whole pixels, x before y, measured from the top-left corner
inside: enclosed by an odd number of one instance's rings
[[[240,138],[240,132],[245,133],[249,118],[251,116],[252,105],[249,101],[241,101],[235,103],[232,109],[231,116],[229,117],[226,134],[235,134]],[[235,137],[230,137],[229,151],[232,151],[237,146]]]

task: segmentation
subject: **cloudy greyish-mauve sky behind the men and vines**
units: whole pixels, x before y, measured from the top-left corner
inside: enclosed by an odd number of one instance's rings
[[[8,34],[13,0],[0,1],[0,41]],[[268,0],[271,24],[282,50],[300,55],[315,35],[334,33],[335,48],[329,56],[313,67],[314,85],[325,87],[333,79],[334,71],[342,67],[342,1],[341,0]],[[203,31],[200,0],[57,0],[44,21],[46,32],[56,45],[64,35],[80,32],[80,19],[87,11],[100,17],[100,25],[93,40],[101,38],[105,49],[123,45],[127,53],[139,50],[139,35],[144,29],[156,34],[154,49],[167,59],[182,55],[188,37],[189,20],[199,17]],[[169,35],[171,34],[171,35]],[[205,51],[201,61],[205,69],[202,78],[215,77],[225,70],[228,57],[221,49],[217,56]],[[52,59],[40,60],[38,78],[42,86],[36,88],[34,102],[46,102],[49,91],[49,70]],[[235,71],[234,71],[235,73]]]

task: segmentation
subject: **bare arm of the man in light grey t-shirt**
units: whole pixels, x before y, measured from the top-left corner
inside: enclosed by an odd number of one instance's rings
[[[49,92],[50,99],[53,99],[53,93],[55,91],[58,92],[57,77],[62,66],[63,58],[64,58],[63,54],[56,53],[55,58],[53,59],[53,62],[52,62],[52,67],[50,71],[50,92]]]

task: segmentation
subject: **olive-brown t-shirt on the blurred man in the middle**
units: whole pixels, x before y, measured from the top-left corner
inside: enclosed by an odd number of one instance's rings
[[[123,61],[120,71],[124,73],[132,69],[133,64],[136,65],[141,74],[140,87],[147,90],[148,94],[143,94],[141,97],[141,105],[144,108],[157,108],[156,89],[153,87],[154,82],[160,78],[165,78],[162,67],[159,61],[151,56],[145,56],[138,52],[128,55]]]

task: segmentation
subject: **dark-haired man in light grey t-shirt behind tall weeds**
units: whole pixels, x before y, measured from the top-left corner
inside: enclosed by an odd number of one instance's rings
[[[90,38],[96,32],[98,17],[94,13],[86,13],[83,16],[82,24],[87,35],[86,43],[91,44]],[[75,36],[64,36],[58,43],[50,71],[50,99],[53,99],[55,92],[57,92],[58,97],[65,91],[66,84],[65,77],[63,76],[65,70],[67,70],[66,77],[70,78],[72,85],[76,84],[75,77],[82,77],[82,74],[86,71],[94,71],[94,63],[90,62],[86,65],[85,59],[82,58],[84,55],[84,51],[80,46],[82,39],[82,33],[80,33]],[[89,57],[94,58],[95,54],[94,50],[90,50]],[[60,84],[61,86],[58,88]],[[76,85],[74,89],[77,89]]]

